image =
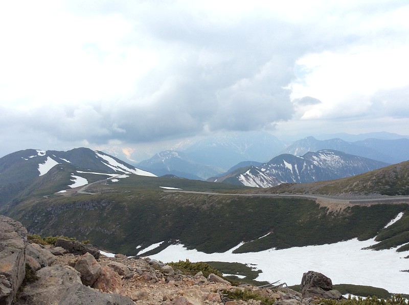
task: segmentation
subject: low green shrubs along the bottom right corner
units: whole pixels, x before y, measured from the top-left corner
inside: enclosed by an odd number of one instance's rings
[[[407,299],[400,294],[394,295],[387,299],[378,299],[377,296],[362,299],[362,297],[351,297],[347,300],[329,300],[329,299],[319,299],[314,301],[315,304],[326,304],[326,305],[405,305],[407,304]]]

